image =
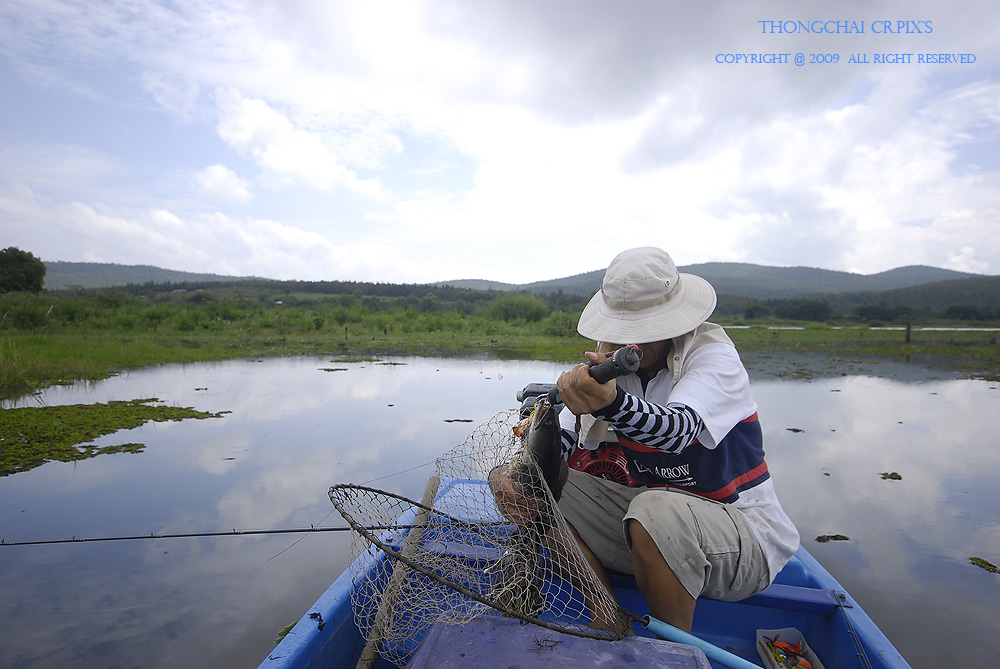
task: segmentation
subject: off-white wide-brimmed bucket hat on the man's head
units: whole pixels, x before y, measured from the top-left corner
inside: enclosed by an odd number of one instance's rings
[[[680,274],[666,251],[629,249],[608,265],[601,290],[580,314],[576,329],[588,339],[613,344],[662,341],[694,330],[715,304],[712,285]]]

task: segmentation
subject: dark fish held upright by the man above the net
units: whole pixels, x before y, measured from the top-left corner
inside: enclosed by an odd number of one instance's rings
[[[569,466],[562,456],[560,409],[562,404],[550,404],[545,397],[538,399],[531,416],[521,421],[515,430],[521,437],[521,451],[508,469],[511,480],[524,494],[542,497],[544,492],[540,485],[544,482],[557,502],[569,474]]]

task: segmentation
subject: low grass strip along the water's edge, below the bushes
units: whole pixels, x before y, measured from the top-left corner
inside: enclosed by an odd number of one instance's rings
[[[741,351],[772,356],[823,353],[845,361],[935,360],[968,378],[1000,380],[995,331],[914,328],[902,330],[810,325],[727,328]],[[103,379],[166,363],[207,362],[284,355],[390,356],[487,355],[504,359],[575,362],[591,342],[509,326],[485,333],[17,333],[0,335],[0,393],[14,396],[52,384]]]

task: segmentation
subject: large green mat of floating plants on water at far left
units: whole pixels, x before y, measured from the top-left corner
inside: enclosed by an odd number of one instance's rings
[[[74,462],[106,453],[139,453],[144,444],[97,446],[87,442],[150,421],[218,418],[227,413],[164,406],[157,404],[159,401],[154,397],[0,411],[0,476],[25,472],[50,461]]]

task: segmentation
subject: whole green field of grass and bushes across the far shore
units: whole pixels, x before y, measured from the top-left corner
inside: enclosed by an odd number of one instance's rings
[[[37,387],[170,362],[277,355],[468,355],[577,361],[593,346],[578,313],[528,295],[475,300],[194,291],[136,296],[0,295],[0,391]],[[741,350],[822,352],[846,359],[927,356],[967,376],[1000,378],[997,332],[912,331],[866,325],[718,321]],[[750,325],[747,325],[749,323]],[[920,325],[961,325],[961,322]],[[985,328],[986,324],[976,322]]]

